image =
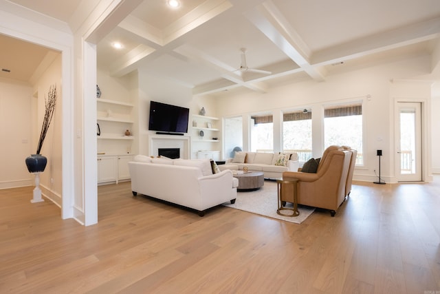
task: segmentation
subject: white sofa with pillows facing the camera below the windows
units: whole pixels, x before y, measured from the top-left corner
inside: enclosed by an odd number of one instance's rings
[[[219,165],[221,171],[243,169],[243,167],[248,167],[252,171],[263,171],[265,178],[282,178],[284,171],[298,171],[298,154],[240,151],[224,165]]]

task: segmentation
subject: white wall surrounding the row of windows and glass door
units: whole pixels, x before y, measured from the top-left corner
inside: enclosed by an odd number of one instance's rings
[[[334,103],[362,101],[364,109],[364,160],[365,166],[355,171],[358,180],[374,180],[377,169],[377,149],[382,149],[382,175],[388,182],[395,181],[394,159],[394,108],[396,98],[430,101],[430,83],[411,81],[430,72],[429,56],[405,61],[353,70],[327,76],[322,83],[305,81],[281,87],[270,88],[266,94],[246,92],[245,94],[223,95],[217,99],[217,112],[222,117],[244,114],[243,122],[252,113],[271,111],[274,126],[281,125],[282,109],[312,108],[314,114],[314,156],[323,151],[322,120],[323,109]],[[410,90],[410,91],[408,91]],[[428,115],[430,118],[430,115]],[[430,120],[428,121],[430,127]],[[275,129],[274,132],[278,132]],[[243,125],[243,132],[246,126]],[[434,133],[433,133],[434,134]],[[437,135],[438,136],[438,135]],[[246,141],[246,140],[245,140]],[[244,147],[246,148],[246,147]],[[274,142],[278,151],[280,144]],[[430,148],[427,149],[430,156]],[[428,175],[429,174],[429,175]],[[426,176],[430,176],[427,171]]]

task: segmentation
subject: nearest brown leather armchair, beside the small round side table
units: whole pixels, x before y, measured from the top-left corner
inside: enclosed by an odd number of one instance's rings
[[[325,149],[316,174],[284,171],[283,180],[298,179],[298,204],[329,209],[331,216],[344,202],[352,152],[340,146]],[[281,201],[294,202],[291,185],[281,187]]]

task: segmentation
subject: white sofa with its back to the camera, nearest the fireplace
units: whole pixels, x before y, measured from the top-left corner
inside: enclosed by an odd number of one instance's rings
[[[235,202],[239,181],[232,171],[212,174],[210,160],[150,158],[137,155],[129,162],[133,196],[165,200],[195,209],[203,216],[206,209],[224,202]]]

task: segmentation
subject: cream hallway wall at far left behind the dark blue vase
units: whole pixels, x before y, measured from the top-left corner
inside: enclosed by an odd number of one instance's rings
[[[32,138],[35,101],[30,85],[0,81],[0,189],[32,185],[25,158],[36,151]]]

